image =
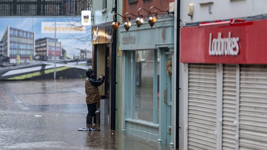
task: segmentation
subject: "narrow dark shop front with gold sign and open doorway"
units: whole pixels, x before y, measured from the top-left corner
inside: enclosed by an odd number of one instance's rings
[[[92,26],[92,68],[97,77],[100,77],[101,74],[105,74],[105,82],[98,88],[100,95],[103,95],[109,102],[109,129],[115,130],[115,118],[112,117],[115,112],[115,107],[112,107],[112,101],[114,100],[113,94],[116,92],[115,89],[112,88],[112,83],[116,77],[113,71],[113,64],[116,63],[116,57],[114,57],[114,53],[116,53],[114,51],[116,50],[113,50],[113,44],[116,43],[116,40],[114,42],[113,30],[110,24],[111,22],[106,22]],[[97,118],[99,119],[99,117],[100,115],[98,114]]]

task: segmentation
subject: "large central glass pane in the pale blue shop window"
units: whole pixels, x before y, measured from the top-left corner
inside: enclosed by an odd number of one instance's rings
[[[152,122],[154,50],[138,51],[135,61],[135,119]]]

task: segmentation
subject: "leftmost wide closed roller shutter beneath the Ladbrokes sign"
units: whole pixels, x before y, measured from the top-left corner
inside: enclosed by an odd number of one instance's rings
[[[188,149],[216,149],[216,65],[189,64]]]

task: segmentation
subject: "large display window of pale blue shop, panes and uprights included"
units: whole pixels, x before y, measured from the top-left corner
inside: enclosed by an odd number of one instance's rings
[[[158,124],[159,62],[156,50],[129,51],[125,55],[127,119]],[[156,60],[156,61],[154,61]],[[155,66],[156,65],[156,66]],[[156,69],[156,70],[155,70]],[[155,71],[154,71],[155,70]]]

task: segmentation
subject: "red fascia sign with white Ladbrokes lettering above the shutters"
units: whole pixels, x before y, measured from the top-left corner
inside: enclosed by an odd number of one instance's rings
[[[181,28],[181,62],[267,64],[267,20]]]

